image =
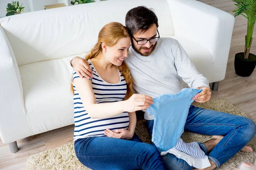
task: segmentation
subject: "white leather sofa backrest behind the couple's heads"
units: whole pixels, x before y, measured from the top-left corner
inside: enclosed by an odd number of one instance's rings
[[[0,26],[21,66],[90,51],[105,24],[124,25],[127,11],[141,5],[154,9],[161,37],[173,35],[166,0],[107,0],[54,8],[3,17]]]

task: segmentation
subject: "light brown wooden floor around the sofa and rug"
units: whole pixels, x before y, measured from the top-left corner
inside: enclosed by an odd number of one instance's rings
[[[211,6],[232,14],[232,0],[200,0]],[[226,78],[219,83],[219,90],[212,92],[212,98],[222,97],[233,105],[247,112],[256,121],[256,71],[250,77],[239,77],[234,70],[234,56],[244,50],[244,36],[247,30],[247,20],[236,17],[233,31]],[[256,30],[256,29],[254,29]],[[251,53],[256,54],[256,31]],[[0,140],[0,170],[25,170],[26,159],[43,150],[59,147],[73,140],[74,125],[52,130],[18,141],[19,151],[10,153],[8,144]]]

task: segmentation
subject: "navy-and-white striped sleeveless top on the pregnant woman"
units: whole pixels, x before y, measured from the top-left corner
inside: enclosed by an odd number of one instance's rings
[[[127,84],[125,79],[119,72],[120,81],[116,84],[105,82],[97,73],[90,59],[88,59],[91,70],[93,71],[93,78],[90,79],[92,82],[93,92],[96,97],[97,103],[108,103],[108,102],[118,102],[124,99]],[[73,71],[73,77],[71,82],[73,84],[73,79],[79,78],[76,71]],[[74,141],[77,139],[82,139],[91,136],[105,136],[104,130],[116,130],[116,129],[127,129],[129,125],[129,115],[128,112],[120,113],[116,116],[105,118],[105,119],[92,119],[86,112],[81,98],[79,97],[79,92],[76,86],[73,84],[74,88],[74,120],[75,120],[75,130],[74,130]]]

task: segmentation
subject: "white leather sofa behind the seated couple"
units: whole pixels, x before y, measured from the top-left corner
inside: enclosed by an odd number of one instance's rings
[[[224,79],[234,17],[196,0],[107,0],[3,17],[0,137],[11,152],[19,139],[74,123],[70,59],[86,55],[105,24],[125,24],[127,11],[141,5],[154,8],[160,36],[179,40],[209,82]]]

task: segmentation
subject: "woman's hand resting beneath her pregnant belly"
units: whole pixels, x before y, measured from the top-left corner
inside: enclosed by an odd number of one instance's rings
[[[117,129],[117,130],[104,130],[104,134],[111,138],[118,138],[118,139],[131,139],[134,136],[134,132],[128,131],[126,129]]]

